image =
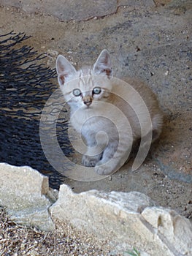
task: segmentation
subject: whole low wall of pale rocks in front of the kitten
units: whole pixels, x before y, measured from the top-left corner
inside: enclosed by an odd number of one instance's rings
[[[75,194],[65,184],[50,189],[48,178],[31,167],[0,164],[0,206],[20,225],[40,230],[74,230],[107,241],[115,252],[135,246],[141,255],[191,255],[192,225],[139,192]]]

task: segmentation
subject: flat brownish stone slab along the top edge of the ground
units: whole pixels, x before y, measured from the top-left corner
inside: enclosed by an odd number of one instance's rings
[[[13,6],[23,9],[26,12],[39,12],[53,15],[60,20],[88,20],[90,18],[99,18],[117,12],[120,6],[154,6],[153,0],[0,0],[4,6]]]

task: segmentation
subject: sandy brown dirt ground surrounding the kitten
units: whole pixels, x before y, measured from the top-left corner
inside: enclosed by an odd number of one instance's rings
[[[161,138],[138,170],[132,172],[128,163],[101,181],[64,178],[64,183],[74,192],[144,192],[158,205],[173,208],[190,219],[191,1],[155,1],[156,5],[147,6],[121,4],[115,12],[82,20],[62,20],[38,8],[26,12],[22,6],[12,7],[12,2],[0,7],[0,34],[14,30],[31,35],[28,45],[46,53],[50,67],[54,67],[58,53],[79,67],[93,64],[100,51],[107,48],[115,75],[144,80],[157,94],[164,111]]]

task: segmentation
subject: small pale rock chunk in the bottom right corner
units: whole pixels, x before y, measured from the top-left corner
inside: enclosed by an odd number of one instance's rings
[[[142,217],[153,226],[156,236],[172,249],[174,255],[192,255],[192,225],[175,211],[147,207]]]

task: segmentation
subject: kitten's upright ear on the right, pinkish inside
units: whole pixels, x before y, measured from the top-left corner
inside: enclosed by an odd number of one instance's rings
[[[96,63],[93,65],[93,72],[97,75],[112,75],[111,59],[108,50],[104,49],[101,51]]]

